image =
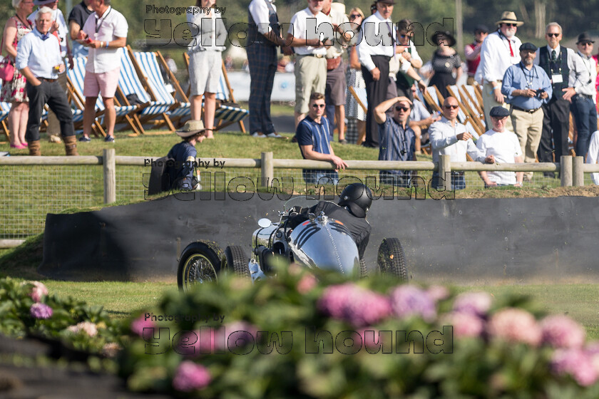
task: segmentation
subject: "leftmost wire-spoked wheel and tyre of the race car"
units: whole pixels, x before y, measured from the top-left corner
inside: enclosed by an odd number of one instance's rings
[[[217,281],[222,252],[213,242],[192,242],[181,254],[177,270],[179,289],[189,291],[193,284]]]

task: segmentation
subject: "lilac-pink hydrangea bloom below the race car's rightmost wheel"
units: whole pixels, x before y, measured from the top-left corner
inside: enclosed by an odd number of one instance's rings
[[[429,294],[408,284],[391,292],[391,310],[400,318],[420,316],[425,321],[433,321],[436,317],[435,303]]]

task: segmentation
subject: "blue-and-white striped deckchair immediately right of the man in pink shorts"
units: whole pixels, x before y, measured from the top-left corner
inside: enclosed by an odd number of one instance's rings
[[[156,127],[167,125],[171,132],[174,131],[175,126],[170,121],[169,115],[171,110],[178,107],[178,102],[158,99],[149,86],[148,78],[144,77],[135,61],[130,47],[119,48],[119,52],[121,53],[121,72],[118,78],[118,93],[123,97],[123,103],[130,105],[126,96],[137,95],[142,103],[139,111],[140,123],[152,123]]]

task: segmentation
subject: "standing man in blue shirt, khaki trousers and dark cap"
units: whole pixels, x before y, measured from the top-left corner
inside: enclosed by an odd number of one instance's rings
[[[541,105],[548,103],[553,94],[549,76],[534,63],[536,49],[533,43],[520,46],[521,61],[507,69],[501,86],[501,93],[507,96],[510,104],[513,130],[520,141],[524,162],[536,162],[535,155],[543,132]],[[529,181],[532,177],[533,172],[524,175]]]

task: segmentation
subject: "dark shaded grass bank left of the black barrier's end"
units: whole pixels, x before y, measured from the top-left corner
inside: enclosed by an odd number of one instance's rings
[[[26,241],[3,252],[0,256],[0,278],[39,280],[44,277],[37,272],[43,258],[43,234],[29,237]]]

